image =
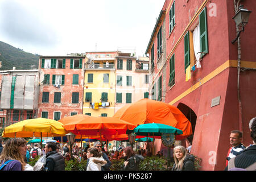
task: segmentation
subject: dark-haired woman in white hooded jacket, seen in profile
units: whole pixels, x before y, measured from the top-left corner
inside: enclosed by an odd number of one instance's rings
[[[102,152],[99,152],[97,148],[88,148],[86,155],[89,159],[86,171],[101,171],[101,166],[107,163],[102,158]]]

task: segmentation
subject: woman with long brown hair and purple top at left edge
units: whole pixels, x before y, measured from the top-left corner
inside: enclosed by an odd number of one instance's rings
[[[0,155],[2,171],[23,171],[26,163],[27,141],[24,138],[10,138]]]

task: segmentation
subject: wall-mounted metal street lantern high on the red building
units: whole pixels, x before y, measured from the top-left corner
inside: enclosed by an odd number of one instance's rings
[[[248,23],[249,16],[251,11],[245,9],[243,5],[239,6],[239,10],[237,11],[236,15],[234,15],[233,19],[236,22],[236,26],[242,28],[237,34],[236,39],[232,40],[232,44],[237,41],[242,31],[245,30],[245,25]]]

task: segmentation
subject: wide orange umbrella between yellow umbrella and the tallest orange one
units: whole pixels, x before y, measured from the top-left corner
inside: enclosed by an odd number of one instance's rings
[[[111,135],[126,134],[127,130],[133,130],[136,126],[137,125],[117,118],[92,116],[88,116],[80,121],[73,121],[63,125],[65,130],[76,135],[103,135],[108,137]]]

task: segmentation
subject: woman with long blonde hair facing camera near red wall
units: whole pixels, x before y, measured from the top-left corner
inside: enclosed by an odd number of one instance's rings
[[[174,148],[174,167],[172,171],[195,171],[195,157],[187,154],[185,147],[176,146]]]

